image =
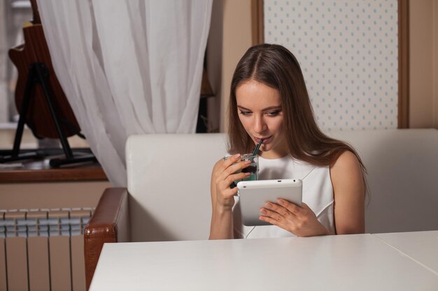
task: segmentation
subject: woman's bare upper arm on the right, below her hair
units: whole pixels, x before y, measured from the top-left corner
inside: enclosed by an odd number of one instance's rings
[[[337,234],[365,232],[365,185],[358,158],[345,151],[330,167]]]

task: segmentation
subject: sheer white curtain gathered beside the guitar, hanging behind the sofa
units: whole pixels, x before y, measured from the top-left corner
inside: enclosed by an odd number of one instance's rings
[[[195,133],[212,0],[38,0],[55,72],[113,186],[125,142]]]

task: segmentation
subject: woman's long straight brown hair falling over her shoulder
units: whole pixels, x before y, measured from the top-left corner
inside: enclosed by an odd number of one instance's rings
[[[359,160],[367,188],[365,166],[355,149],[346,142],[328,137],[316,124],[302,70],[294,55],[281,45],[250,47],[234,70],[228,108],[230,154],[248,153],[254,148],[253,140],[239,120],[236,101],[236,88],[248,80],[261,82],[280,92],[283,130],[292,158],[312,165],[331,166],[344,151],[351,151]]]

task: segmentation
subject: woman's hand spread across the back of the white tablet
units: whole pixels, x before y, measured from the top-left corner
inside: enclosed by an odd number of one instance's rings
[[[299,207],[283,199],[278,199],[277,203],[266,202],[260,209],[260,220],[292,232],[297,237],[328,234],[307,204],[302,203],[302,207]]]

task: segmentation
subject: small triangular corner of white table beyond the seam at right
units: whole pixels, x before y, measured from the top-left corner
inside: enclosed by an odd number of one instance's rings
[[[374,235],[438,276],[438,230]]]

